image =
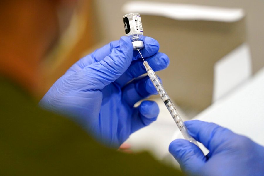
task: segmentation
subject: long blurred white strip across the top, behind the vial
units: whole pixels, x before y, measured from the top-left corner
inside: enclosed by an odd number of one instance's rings
[[[236,22],[245,16],[245,12],[240,8],[223,8],[148,1],[129,1],[123,5],[122,11],[124,13],[164,16],[175,20],[206,20],[221,22]]]

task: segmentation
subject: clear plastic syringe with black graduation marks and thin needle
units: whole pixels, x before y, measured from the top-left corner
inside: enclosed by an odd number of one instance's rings
[[[139,49],[138,49],[139,54],[141,55]],[[170,115],[172,116],[173,120],[175,121],[175,123],[177,124],[178,128],[180,129],[183,137],[194,143],[195,145],[198,145],[197,141],[192,138],[192,136],[189,135],[186,126],[184,125],[179,113],[177,112],[174,104],[172,103],[172,101],[170,100],[170,97],[168,96],[167,92],[165,91],[163,85],[161,84],[160,80],[158,79],[158,76],[156,75],[156,73],[152,70],[152,68],[148,65],[148,62],[144,60],[143,56],[141,55],[142,59],[143,59],[143,65],[146,68],[146,71],[148,72],[148,77],[151,80],[151,82],[153,83],[153,85],[155,86],[158,94],[160,95],[160,98],[162,99],[162,101],[164,102],[165,106],[167,107],[167,109],[170,112]]]

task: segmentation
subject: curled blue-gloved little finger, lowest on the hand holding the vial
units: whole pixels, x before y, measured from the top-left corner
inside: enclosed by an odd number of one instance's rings
[[[133,110],[131,133],[155,121],[159,111],[158,104],[155,101],[142,101],[141,104]]]

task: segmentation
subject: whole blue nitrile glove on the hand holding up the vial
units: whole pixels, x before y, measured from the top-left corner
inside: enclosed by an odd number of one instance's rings
[[[145,48],[141,53],[149,65],[156,71],[165,69],[169,58],[158,52],[158,42],[142,39]],[[146,73],[142,63],[131,40],[121,37],[76,62],[53,84],[40,106],[72,117],[97,139],[119,147],[131,133],[155,121],[159,113],[153,101],[133,107],[157,94],[148,76],[139,77]]]

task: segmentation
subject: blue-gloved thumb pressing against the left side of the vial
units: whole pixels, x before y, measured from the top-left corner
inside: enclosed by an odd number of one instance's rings
[[[121,37],[119,44],[113,48],[111,54],[65,79],[70,79],[74,89],[101,90],[127,70],[132,56],[131,40],[128,37]]]

